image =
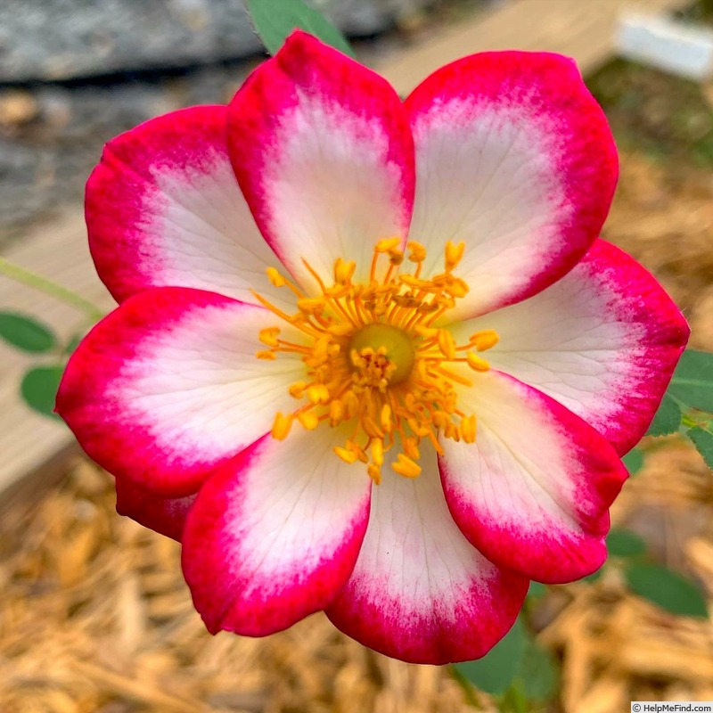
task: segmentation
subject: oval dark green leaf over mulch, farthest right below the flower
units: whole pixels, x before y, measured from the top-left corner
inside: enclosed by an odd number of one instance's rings
[[[686,617],[708,617],[706,600],[690,579],[660,564],[631,562],[627,566],[629,588],[661,609]]]

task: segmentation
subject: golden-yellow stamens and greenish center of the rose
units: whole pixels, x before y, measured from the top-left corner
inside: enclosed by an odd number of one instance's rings
[[[453,275],[463,258],[463,242],[447,242],[445,269],[422,279],[425,248],[408,243],[407,260],[414,268],[405,273],[400,238],[378,242],[374,248],[368,283],[353,283],[356,264],[338,258],[333,283],[327,285],[304,261],[321,294],[307,296],[297,284],[274,267],[267,276],[275,287],[287,287],[297,302],[297,312],[287,314],[261,295],[256,298],[304,339],[283,340],[280,327],[259,334],[267,349],[259,359],[279,354],[299,356],[305,380],[290,387],[298,402],[293,413],[276,414],[274,438],[287,438],[298,421],[307,430],[320,424],[344,425],[349,435],[334,452],[347,463],[366,463],[374,482],[381,482],[384,453],[398,449],[391,468],[414,478],[421,472],[420,446],[427,440],[438,454],[439,437],[475,440],[476,418],[458,408],[455,384],[472,382],[453,369],[463,363],[474,372],[486,372],[488,362],[478,352],[495,346],[493,330],[471,334],[456,345],[451,332],[439,321],[463,298],[468,285]],[[388,265],[377,278],[380,260]]]

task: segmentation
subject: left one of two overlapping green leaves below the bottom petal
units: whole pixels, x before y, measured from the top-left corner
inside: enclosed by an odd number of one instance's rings
[[[504,639],[482,659],[456,663],[454,668],[481,691],[502,695],[517,676],[524,652],[525,627],[518,618]]]

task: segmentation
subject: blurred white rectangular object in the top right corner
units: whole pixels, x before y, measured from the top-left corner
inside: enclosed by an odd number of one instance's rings
[[[679,77],[713,77],[713,30],[663,16],[627,13],[619,19],[615,45],[620,56]]]

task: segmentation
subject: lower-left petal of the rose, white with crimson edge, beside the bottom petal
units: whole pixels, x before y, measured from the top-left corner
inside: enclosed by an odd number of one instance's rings
[[[324,609],[347,581],[372,481],[332,452],[344,438],[324,427],[268,435],[201,488],[183,567],[210,632],[272,634]]]

